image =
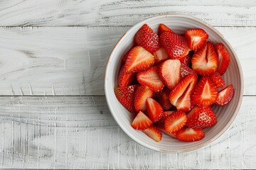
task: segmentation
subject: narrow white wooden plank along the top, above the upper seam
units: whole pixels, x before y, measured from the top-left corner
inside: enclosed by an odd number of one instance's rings
[[[1,1],[0,26],[133,26],[150,16],[181,13],[213,26],[256,26],[247,1]]]

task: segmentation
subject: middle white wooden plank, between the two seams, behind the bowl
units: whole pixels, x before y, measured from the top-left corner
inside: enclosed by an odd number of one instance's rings
[[[0,96],[104,95],[107,59],[128,27],[0,28]],[[255,95],[256,28],[217,27],[238,53]]]

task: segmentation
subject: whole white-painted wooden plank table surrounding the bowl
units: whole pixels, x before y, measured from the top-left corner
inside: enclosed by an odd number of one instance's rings
[[[242,106],[218,140],[193,152],[146,149],[107,108],[114,44],[149,16],[182,13],[223,33],[245,78]],[[0,167],[256,169],[255,0],[0,1]]]

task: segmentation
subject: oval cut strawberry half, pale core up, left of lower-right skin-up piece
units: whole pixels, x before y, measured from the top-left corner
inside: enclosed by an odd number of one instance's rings
[[[166,132],[176,132],[186,125],[187,119],[186,113],[176,111],[164,119],[164,128]]]

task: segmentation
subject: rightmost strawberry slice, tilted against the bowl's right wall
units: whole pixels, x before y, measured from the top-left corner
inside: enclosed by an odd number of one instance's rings
[[[230,84],[229,86],[226,86],[225,89],[218,92],[218,97],[215,101],[215,104],[217,106],[224,106],[228,104],[232,100],[234,94],[235,94],[234,86],[232,84]]]

